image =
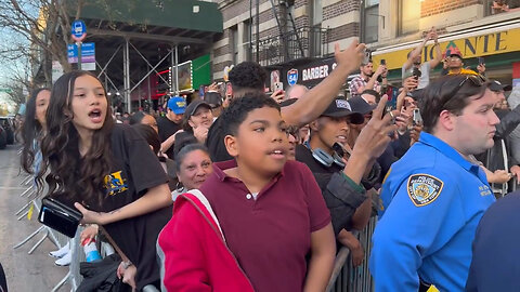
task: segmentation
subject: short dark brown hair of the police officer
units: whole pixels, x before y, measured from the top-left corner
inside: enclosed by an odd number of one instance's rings
[[[472,81],[469,79],[474,79]],[[439,115],[448,110],[454,115],[460,115],[470,103],[469,97],[477,95],[481,98],[487,88],[485,80],[470,75],[447,75],[441,77],[425,88],[419,99],[419,109],[422,116],[424,131],[432,133],[439,121]],[[482,83],[479,85],[477,83]]]

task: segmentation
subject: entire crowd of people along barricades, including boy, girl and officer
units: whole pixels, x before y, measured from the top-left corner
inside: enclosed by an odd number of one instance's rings
[[[265,69],[244,62],[229,74],[232,96],[172,96],[164,117],[138,111],[128,124],[95,76],[68,72],[29,99],[22,165],[102,227],[82,241],[106,233],[118,277],[138,291],[324,291],[338,247],[362,263],[352,231],[374,215],[376,291],[491,291],[471,244],[495,201],[490,183],[520,178],[515,155],[495,163],[493,148],[520,109],[502,109],[511,89],[487,80],[485,64],[465,68],[437,39],[430,30],[408,54],[393,106],[388,69],[362,64],[356,41],[336,45],[337,67],[312,89],[268,96]],[[421,63],[429,41],[434,58]],[[441,63],[445,76],[431,78]]]

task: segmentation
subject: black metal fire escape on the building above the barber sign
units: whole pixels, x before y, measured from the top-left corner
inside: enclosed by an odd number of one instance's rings
[[[255,40],[257,43],[251,48],[253,59],[262,66],[274,66],[328,54],[328,28],[297,25],[292,16],[294,0],[270,2],[278,34]]]

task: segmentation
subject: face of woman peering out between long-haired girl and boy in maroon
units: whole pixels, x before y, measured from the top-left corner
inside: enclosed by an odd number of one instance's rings
[[[179,185],[172,193],[173,201],[190,189],[197,189],[213,172],[209,151],[202,144],[185,145],[176,156]]]

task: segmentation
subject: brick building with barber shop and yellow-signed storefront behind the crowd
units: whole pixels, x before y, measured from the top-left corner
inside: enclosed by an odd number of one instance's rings
[[[359,37],[374,51],[375,64],[387,61],[390,80],[399,83],[407,52],[432,26],[439,31],[441,50],[457,47],[465,65],[474,68],[482,56],[487,76],[508,83],[520,78],[520,11],[494,13],[492,0],[216,1],[224,34],[213,44],[214,80],[223,79],[224,68],[251,59],[277,70],[285,87],[287,72],[295,68],[298,83],[312,87],[334,69],[334,43],[346,48]],[[518,5],[509,2],[511,9]],[[430,42],[425,61],[432,52]]]

